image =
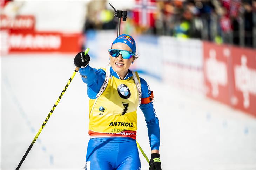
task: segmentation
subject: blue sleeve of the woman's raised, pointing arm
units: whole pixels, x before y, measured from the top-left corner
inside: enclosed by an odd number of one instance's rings
[[[102,69],[95,69],[89,66],[80,68],[79,73],[82,76],[83,82],[87,84],[87,95],[90,99],[96,99],[96,95],[105,80],[106,72]]]

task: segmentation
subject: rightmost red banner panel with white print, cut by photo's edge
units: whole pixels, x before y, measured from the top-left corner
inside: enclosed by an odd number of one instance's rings
[[[256,50],[233,47],[231,56],[231,105],[256,117]]]

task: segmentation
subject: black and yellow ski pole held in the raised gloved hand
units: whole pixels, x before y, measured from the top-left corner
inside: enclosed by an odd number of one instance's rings
[[[89,50],[90,50],[90,49],[87,48],[87,49],[85,50],[85,54],[87,54]],[[76,72],[78,72],[78,70],[79,70],[79,68],[76,67],[76,68],[75,68],[75,71],[74,71],[73,74],[72,74],[72,76],[71,76],[70,79],[68,80],[68,83],[66,84],[66,86],[65,86],[64,89],[62,90],[62,92],[61,92],[61,94],[60,94],[58,100],[57,100],[57,101],[55,102],[55,104],[53,105],[53,108],[51,109],[51,111],[50,111],[50,113],[48,114],[47,118],[46,118],[45,121],[43,122],[41,128],[38,130],[38,133],[35,135],[34,140],[33,140],[32,143],[30,144],[30,146],[28,147],[28,149],[27,149],[25,155],[22,157],[22,159],[21,159],[21,161],[20,161],[18,167],[16,168],[16,170],[20,169],[21,164],[23,163],[23,161],[25,160],[25,158],[26,158],[26,156],[28,155],[29,151],[30,151],[31,148],[33,147],[33,145],[34,145],[36,139],[38,138],[38,136],[39,136],[40,133],[42,132],[43,128],[45,127],[45,125],[46,125],[46,123],[47,123],[47,121],[49,120],[49,118],[50,118],[50,116],[52,115],[54,109],[55,109],[56,106],[58,105],[60,99],[62,98],[63,94],[64,94],[65,91],[67,90],[69,84],[70,84],[71,81],[73,80],[73,78],[74,78]]]

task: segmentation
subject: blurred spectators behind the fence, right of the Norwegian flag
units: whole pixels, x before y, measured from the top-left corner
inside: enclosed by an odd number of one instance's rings
[[[255,1],[162,1],[159,4],[156,34],[235,45],[242,43],[240,36],[243,36],[244,45],[253,46]]]

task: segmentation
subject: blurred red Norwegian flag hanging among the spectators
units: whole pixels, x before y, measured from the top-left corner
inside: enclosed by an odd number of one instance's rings
[[[155,0],[135,0],[135,8],[133,10],[135,23],[141,26],[154,27],[156,9]]]

